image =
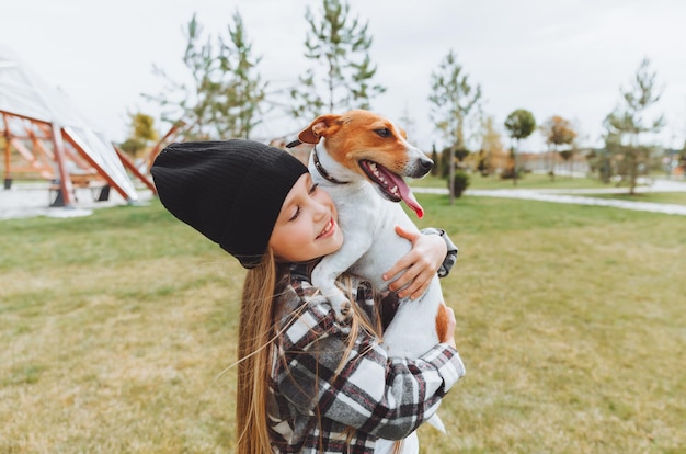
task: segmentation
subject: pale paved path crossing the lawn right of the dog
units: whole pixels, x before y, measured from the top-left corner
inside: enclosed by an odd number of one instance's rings
[[[413,188],[414,192],[447,194],[447,189]],[[466,195],[484,197],[526,198],[542,202],[570,203],[578,205],[610,206],[615,208],[634,209],[640,212],[665,213],[686,216],[686,205],[651,202],[629,202],[611,198],[597,198],[593,194],[626,194],[627,188],[607,189],[582,189],[582,190],[526,190],[526,189],[499,189],[499,190],[467,190]],[[686,182],[655,180],[650,186],[637,188],[637,192],[686,192]],[[576,194],[585,194],[576,195]]]

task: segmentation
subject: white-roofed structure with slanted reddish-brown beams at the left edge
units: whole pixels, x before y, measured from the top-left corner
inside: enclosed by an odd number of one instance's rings
[[[128,172],[156,193],[150,179],[91,127],[61,92],[1,46],[0,149],[4,189],[15,180],[48,181],[50,206],[73,206],[76,188],[91,188],[99,201],[114,190],[128,203],[136,202]]]

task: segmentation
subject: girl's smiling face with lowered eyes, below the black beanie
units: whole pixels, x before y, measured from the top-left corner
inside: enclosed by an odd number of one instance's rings
[[[343,245],[339,214],[329,194],[304,173],[290,189],[274,225],[270,247],[286,262],[305,262]]]

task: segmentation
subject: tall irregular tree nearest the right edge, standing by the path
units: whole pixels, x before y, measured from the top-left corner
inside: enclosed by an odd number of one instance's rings
[[[607,130],[605,144],[608,151],[619,162],[619,173],[629,179],[629,194],[636,194],[638,175],[647,168],[653,146],[647,144],[644,136],[659,133],[664,126],[664,117],[655,115],[648,118],[648,110],[655,104],[664,88],[658,87],[656,73],[650,70],[650,61],[644,58],[632,84],[620,89],[622,102],[604,121]]]

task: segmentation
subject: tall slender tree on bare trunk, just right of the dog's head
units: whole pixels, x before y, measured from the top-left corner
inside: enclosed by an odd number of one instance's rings
[[[457,63],[457,55],[450,49],[441,61],[438,69],[431,73],[432,93],[428,97],[431,120],[441,130],[450,147],[448,189],[450,205],[455,203],[455,152],[466,150],[465,123],[481,100],[481,87],[472,87],[468,76]]]

